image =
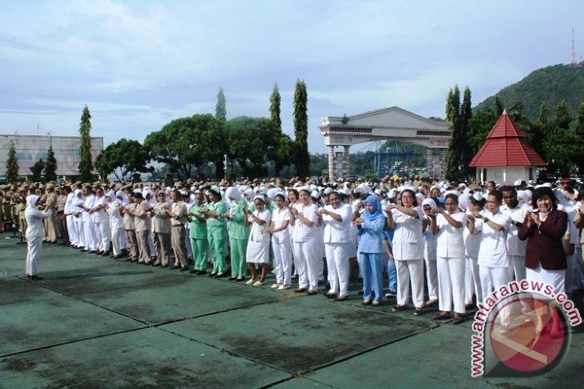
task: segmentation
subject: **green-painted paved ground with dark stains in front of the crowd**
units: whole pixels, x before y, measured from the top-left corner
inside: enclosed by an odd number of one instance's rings
[[[335,303],[0,235],[0,388],[550,388],[584,382],[583,325],[531,379],[472,379],[470,321]],[[270,279],[270,281],[272,281]],[[582,311],[582,296],[575,299]],[[584,313],[584,311],[582,311]]]

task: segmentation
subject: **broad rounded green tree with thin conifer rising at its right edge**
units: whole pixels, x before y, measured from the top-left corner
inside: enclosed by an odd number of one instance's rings
[[[193,177],[194,171],[198,174],[208,162],[215,162],[216,167],[220,164],[223,169],[223,125],[212,114],[175,119],[160,131],[148,134],[144,146],[151,159],[168,164],[179,178]]]

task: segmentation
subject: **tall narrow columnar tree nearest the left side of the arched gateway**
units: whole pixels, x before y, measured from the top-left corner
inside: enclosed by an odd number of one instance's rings
[[[308,155],[308,96],[303,79],[296,80],[294,89],[294,141],[296,142],[296,173],[305,177],[310,173]]]

